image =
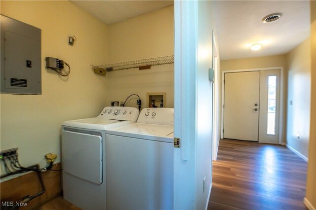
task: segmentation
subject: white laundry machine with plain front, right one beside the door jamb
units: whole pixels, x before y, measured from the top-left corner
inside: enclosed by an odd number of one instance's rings
[[[107,209],[173,209],[173,108],[106,131]]]

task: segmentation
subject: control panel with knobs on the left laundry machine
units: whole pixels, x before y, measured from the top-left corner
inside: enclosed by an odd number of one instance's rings
[[[139,110],[135,107],[127,106],[106,106],[98,117],[113,120],[131,120],[135,122],[138,118]]]

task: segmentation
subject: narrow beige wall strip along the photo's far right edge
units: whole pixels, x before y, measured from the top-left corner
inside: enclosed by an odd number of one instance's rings
[[[316,209],[316,1],[311,0],[311,132],[306,182],[306,199]],[[307,202],[306,202],[307,201]],[[310,209],[312,209],[310,206]]]

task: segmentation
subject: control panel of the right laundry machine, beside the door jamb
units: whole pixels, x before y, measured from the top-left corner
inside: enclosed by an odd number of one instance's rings
[[[173,108],[144,108],[138,117],[139,123],[173,125]]]

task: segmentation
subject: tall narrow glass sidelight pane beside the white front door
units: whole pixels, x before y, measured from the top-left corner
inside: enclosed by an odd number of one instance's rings
[[[276,75],[268,76],[267,134],[276,135]]]

